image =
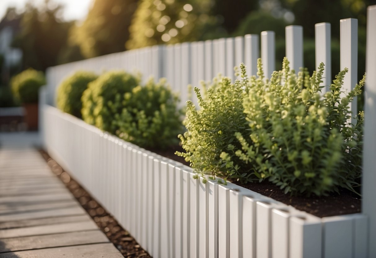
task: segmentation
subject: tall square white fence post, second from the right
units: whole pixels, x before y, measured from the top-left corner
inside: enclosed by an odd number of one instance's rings
[[[349,18],[340,21],[340,69],[349,68],[349,72],[343,79],[343,91],[341,97],[349,93],[355,87],[358,76],[358,20]],[[350,123],[355,124],[357,115],[357,101],[349,104],[352,112]]]

